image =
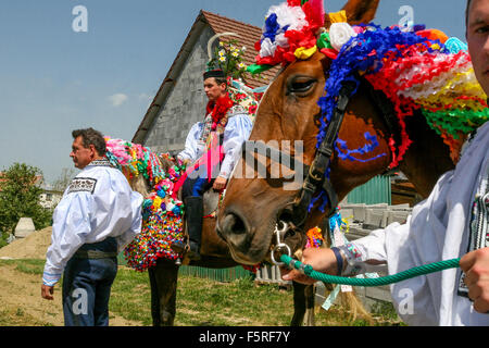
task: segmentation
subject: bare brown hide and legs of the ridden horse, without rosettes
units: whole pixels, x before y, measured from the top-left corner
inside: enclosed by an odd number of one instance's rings
[[[175,163],[160,157],[164,172]],[[128,177],[129,184],[134,190],[140,192],[143,197],[150,194],[148,181],[142,175]],[[204,215],[215,209],[218,194],[206,192],[204,195]],[[208,202],[211,204],[206,207]],[[214,201],[214,204],[212,204]],[[212,207],[214,206],[214,207]],[[205,212],[206,211],[206,212]],[[205,217],[202,226],[201,259],[199,261],[189,261],[184,259],[184,264],[201,266],[209,269],[225,269],[239,265],[231,257],[227,244],[215,233],[215,217]],[[188,262],[189,261],[189,262]],[[172,326],[176,314],[176,290],[178,282],[179,265],[174,260],[160,258],[156,264],[148,269],[151,285],[151,316],[153,326]],[[314,301],[314,294],[310,288],[304,291],[304,287],[294,283],[293,287],[293,308],[294,313],[291,320],[292,326],[302,325],[306,309]],[[308,307],[308,308],[306,308]],[[313,316],[309,313],[306,323],[313,324]]]

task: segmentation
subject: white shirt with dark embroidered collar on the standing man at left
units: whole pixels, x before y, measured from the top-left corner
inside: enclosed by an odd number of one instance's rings
[[[87,165],[57,206],[43,284],[53,286],[59,282],[66,262],[82,245],[115,237],[121,251],[141,232],[143,198],[133,191],[124,174],[108,163]]]

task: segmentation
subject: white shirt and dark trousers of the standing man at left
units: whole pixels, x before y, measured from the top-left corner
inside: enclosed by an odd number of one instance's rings
[[[53,286],[63,274],[65,325],[108,325],[117,253],[141,229],[142,196],[108,160],[90,162],[66,188],[53,214],[42,274]]]

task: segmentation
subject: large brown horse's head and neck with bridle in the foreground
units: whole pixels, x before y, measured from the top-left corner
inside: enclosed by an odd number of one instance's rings
[[[324,35],[328,32],[328,26],[331,28],[328,33],[330,42],[327,42],[331,44],[335,24],[336,28],[343,27],[348,33],[353,32],[352,25],[373,21],[378,3],[378,0],[349,0],[342,9],[348,27],[344,21],[338,25],[336,17],[339,13],[324,15],[318,11],[314,15],[311,9],[321,8],[317,1],[309,1],[308,8],[302,5],[302,10],[310,20],[309,27],[313,27],[313,21],[321,22],[324,26],[313,28],[312,35]],[[288,4],[296,7],[294,9],[301,7],[300,1],[289,0]],[[281,10],[284,13],[284,7]],[[271,13],[275,14],[273,11]],[[272,47],[271,45],[265,47],[267,38],[278,37],[280,34],[271,30],[274,28],[273,24],[276,27],[280,26],[277,24],[278,21],[274,22],[273,15],[267,16],[266,21],[265,29],[268,32],[264,32],[262,37],[261,54],[265,51],[264,48]],[[396,28],[391,29],[396,32]],[[368,30],[368,26],[360,29],[365,36],[369,35]],[[396,33],[398,32],[400,30]],[[297,32],[294,35],[298,36]],[[308,35],[302,33],[301,38],[310,37]],[[416,47],[428,45],[424,41],[428,42],[426,38],[418,36],[421,38],[418,40],[414,35],[412,34],[410,38],[416,42]],[[285,36],[287,37],[287,34]],[[309,57],[299,58],[301,54],[301,52],[297,54],[299,50],[292,51],[292,54],[287,51],[296,42],[292,41],[292,34],[288,37],[288,47],[276,44],[273,47],[275,53],[259,57],[262,59],[261,66],[265,69],[266,64],[274,65],[280,62],[284,66],[263,96],[256,112],[254,127],[249,138],[249,142],[254,142],[255,148],[250,151],[243,147],[238,165],[228,183],[223,207],[217,214],[217,233],[228,244],[233,258],[241,264],[251,265],[263,260],[278,260],[274,253],[284,253],[287,249],[289,253],[296,253],[300,259],[300,251],[305,244],[304,232],[330,216],[336,211],[338,201],[353,188],[365,184],[376,175],[392,169],[401,171],[415,186],[417,192],[426,198],[440,175],[454,169],[456,161],[457,151],[447,146],[449,142],[447,136],[440,136],[439,129],[427,122],[419,108],[414,109],[409,116],[397,116],[403,109],[388,98],[391,97],[388,88],[385,90],[373,88],[372,80],[367,80],[368,75],[365,74],[366,66],[360,69],[360,74],[355,73],[358,85],[352,78],[347,78],[344,84],[338,87],[340,92],[326,99],[330,90],[325,86],[335,87],[335,80],[330,77],[339,76],[338,74],[346,67],[335,64],[335,60],[347,57],[346,54],[355,48],[362,49],[365,41],[361,44],[350,41],[353,44],[347,49],[338,46],[335,48],[331,45],[323,45],[324,49],[305,47],[302,52],[310,52]],[[344,41],[342,44],[344,45]],[[439,45],[439,41],[436,44],[429,41],[429,45],[431,49],[432,45]],[[281,51],[279,48],[283,48]],[[368,59],[368,55],[366,57]],[[388,84],[390,80],[385,78],[375,83]],[[329,120],[325,117],[323,109],[328,100],[335,102]],[[327,127],[323,128],[323,124]],[[459,147],[454,147],[456,150],[460,150],[460,145],[465,138],[466,133],[460,134]],[[290,146],[296,140],[302,144],[300,151]],[[368,151],[361,151],[365,149],[365,140]],[[392,146],[393,142],[403,146],[396,148]],[[264,144],[262,150],[259,150],[258,144]],[[280,144],[289,146],[279,148]],[[351,158],[353,152],[342,152],[347,148],[359,149],[353,151],[359,160],[349,161],[348,158]],[[271,159],[274,153],[276,158],[301,159],[294,166],[283,163],[280,165],[283,172],[298,169],[303,171],[303,185],[298,185],[296,189],[285,189],[290,176],[283,175],[277,178],[258,175],[256,165],[260,163],[267,174],[272,172],[274,164]],[[250,158],[252,163],[249,161]],[[254,175],[249,175],[250,167]],[[319,196],[321,192],[325,195]],[[317,197],[322,199],[315,199]],[[285,225],[289,228],[284,228]],[[281,248],[278,248],[279,245]]]

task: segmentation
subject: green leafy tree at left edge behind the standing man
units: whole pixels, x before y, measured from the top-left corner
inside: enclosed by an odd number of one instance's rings
[[[2,173],[0,181],[0,231],[13,233],[21,217],[32,217],[36,229],[48,226],[52,210],[39,202],[42,189],[38,186],[39,169],[14,163]]]

